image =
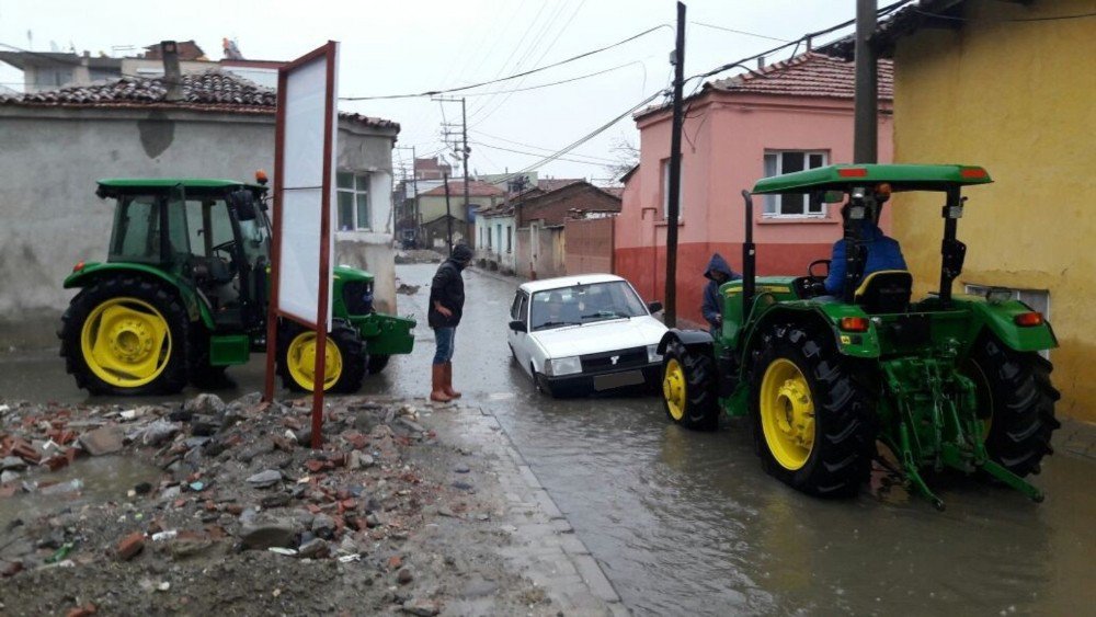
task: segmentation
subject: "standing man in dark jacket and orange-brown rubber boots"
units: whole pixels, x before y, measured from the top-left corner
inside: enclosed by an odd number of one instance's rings
[[[466,244],[453,248],[449,259],[442,262],[430,284],[430,308],[426,323],[434,329],[434,363],[431,367],[430,400],[446,402],[460,398],[453,389],[453,349],[457,324],[465,308],[465,281],[460,271],[472,260],[472,250]]]

